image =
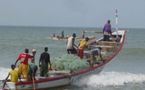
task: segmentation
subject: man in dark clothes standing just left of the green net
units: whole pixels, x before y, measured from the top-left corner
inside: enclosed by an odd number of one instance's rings
[[[39,67],[40,67],[40,76],[47,77],[48,76],[48,64],[51,68],[51,62],[50,62],[50,55],[48,53],[48,47],[44,48],[44,52],[41,53],[40,59],[39,59]]]

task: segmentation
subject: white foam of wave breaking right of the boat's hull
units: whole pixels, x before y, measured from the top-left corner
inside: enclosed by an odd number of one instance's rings
[[[77,82],[78,86],[119,86],[126,83],[139,83],[145,81],[144,74],[133,74],[127,72],[102,72],[98,75],[87,76]]]

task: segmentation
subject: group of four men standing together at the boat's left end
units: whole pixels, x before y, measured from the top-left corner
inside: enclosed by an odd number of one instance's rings
[[[5,81],[7,81],[9,76],[11,82],[14,83],[18,82],[18,79],[20,79],[20,81],[22,79],[25,81],[35,80],[36,72],[38,70],[38,67],[35,64],[35,54],[35,49],[32,49],[32,54],[29,54],[29,49],[27,48],[24,50],[24,52],[20,53],[15,64],[11,65],[11,71],[9,72]],[[31,62],[29,62],[29,60],[31,60]],[[20,62],[18,69],[16,69],[17,62]],[[51,61],[50,55],[48,53],[48,47],[45,47],[44,52],[41,53],[39,59],[40,76],[48,76],[48,65],[51,67]]]

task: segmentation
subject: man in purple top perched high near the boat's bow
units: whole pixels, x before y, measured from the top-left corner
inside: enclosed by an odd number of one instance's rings
[[[104,41],[110,41],[110,36],[112,36],[111,31],[111,21],[108,20],[107,23],[104,25],[103,34],[104,34]]]

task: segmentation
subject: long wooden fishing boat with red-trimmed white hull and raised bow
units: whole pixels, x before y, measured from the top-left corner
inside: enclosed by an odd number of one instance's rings
[[[122,49],[124,45],[124,40],[126,36],[126,30],[118,30],[112,33],[112,41],[103,41],[102,38],[99,40],[92,40],[93,49],[102,48],[101,53],[105,52],[102,61],[96,63],[88,68],[81,69],[79,71],[50,71],[48,77],[36,76],[36,80],[33,81],[20,81],[17,83],[12,83],[7,81],[4,89],[37,89],[44,90],[51,87],[58,87],[63,85],[71,84],[74,80],[94,74],[99,73],[103,70],[105,65],[110,62]],[[117,40],[115,38],[118,38]]]

